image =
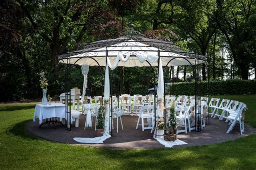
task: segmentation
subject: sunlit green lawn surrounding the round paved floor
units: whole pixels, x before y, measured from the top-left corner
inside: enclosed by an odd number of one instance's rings
[[[219,96],[247,104],[256,128],[256,96]],[[35,105],[0,107],[0,169],[255,169],[256,134],[221,144],[188,148],[127,149],[72,146],[32,136],[25,125]],[[200,133],[198,133],[200,135]]]

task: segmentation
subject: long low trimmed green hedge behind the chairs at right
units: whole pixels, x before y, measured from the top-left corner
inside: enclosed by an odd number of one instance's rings
[[[194,95],[194,82],[174,83],[171,94]],[[170,92],[169,92],[170,94]],[[256,80],[221,80],[199,82],[199,95],[243,95],[256,94]]]

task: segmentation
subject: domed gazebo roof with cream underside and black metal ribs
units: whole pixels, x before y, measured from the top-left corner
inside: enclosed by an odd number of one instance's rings
[[[118,54],[122,54],[123,56],[130,54],[129,61],[118,63],[118,66],[122,67],[150,66],[147,62],[139,62],[136,56],[138,54],[160,56],[163,66],[195,65],[206,61],[206,57],[203,55],[183,51],[180,47],[170,42],[145,38],[138,31],[130,29],[124,36],[119,38],[92,42],[84,46],[82,50],[60,55],[59,62],[105,66],[106,53],[111,62],[114,62]],[[69,56],[70,61],[67,60]],[[158,65],[157,63],[152,63],[151,66]]]

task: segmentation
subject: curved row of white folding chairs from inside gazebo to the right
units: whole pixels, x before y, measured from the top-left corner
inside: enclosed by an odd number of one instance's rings
[[[91,103],[91,97],[87,97],[87,99],[90,98]],[[97,105],[100,105],[100,98],[101,96],[95,96],[95,103]],[[180,122],[180,127],[184,126],[184,129],[179,129],[178,133],[185,132],[187,133],[187,129],[190,132],[194,129],[194,119],[191,115],[191,112],[193,112],[192,109],[194,109],[194,96],[166,96],[165,97],[165,104],[166,107],[170,107],[172,103],[176,104],[176,111],[178,113],[177,118]],[[142,130],[145,129],[152,129],[154,125],[154,96],[142,96],[142,95],[134,95],[131,97],[131,95],[121,95],[119,96],[119,101],[116,96],[112,96],[112,102],[114,104],[113,114],[115,110],[118,112],[122,112],[122,114],[132,114],[137,115],[138,122],[136,129],[138,129],[139,125],[142,125]],[[132,103],[133,101],[133,103]],[[157,103],[157,102],[156,102]],[[209,105],[208,105],[209,104]],[[132,109],[133,105],[133,110]],[[148,105],[148,107],[147,107]],[[198,109],[201,109],[201,122],[202,122],[202,128],[205,128],[205,117],[208,115],[208,107],[210,111],[210,115],[213,118],[218,117],[220,120],[226,119],[226,122],[229,123],[230,127],[227,130],[227,133],[229,133],[233,128],[234,125],[239,122],[240,125],[240,133],[242,134],[244,132],[244,116],[242,116],[244,110],[246,109],[246,105],[244,103],[233,101],[233,100],[220,100],[219,98],[211,98],[210,102],[208,102],[208,97],[201,97],[200,103]],[[118,107],[120,106],[120,107]],[[118,109],[120,108],[120,109]],[[204,109],[204,110],[203,110]],[[120,117],[120,116],[119,116]],[[144,118],[147,118],[149,123],[147,123],[150,128],[146,128],[144,123]],[[139,122],[142,121],[142,124],[139,124]],[[117,118],[118,122],[118,118]],[[123,123],[122,118],[120,118],[120,122],[122,124],[123,129]],[[118,124],[118,123],[117,123]],[[118,129],[117,129],[118,130]]]

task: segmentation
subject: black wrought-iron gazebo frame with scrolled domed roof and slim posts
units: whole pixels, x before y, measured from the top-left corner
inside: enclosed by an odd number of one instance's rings
[[[132,40],[132,41],[131,41]],[[133,44],[131,44],[131,42]],[[117,48],[117,49],[115,49]],[[120,49],[118,49],[120,48]],[[127,49],[126,49],[127,48]],[[130,49],[129,49],[130,48]],[[136,48],[136,49],[132,49]],[[81,65],[83,63],[82,60],[90,61],[91,66],[103,66],[103,60],[105,58],[105,66],[107,64],[107,58],[115,58],[116,54],[123,54],[127,55],[130,54],[131,57],[136,57],[137,54],[147,54],[149,52],[156,53],[159,57],[157,65],[151,64],[149,61],[146,60],[146,63],[151,68],[158,67],[159,72],[159,60],[160,59],[167,59],[168,62],[165,62],[166,67],[171,65],[171,62],[177,60],[179,62],[186,64],[183,65],[190,65],[193,69],[194,75],[194,82],[195,82],[195,89],[194,89],[194,100],[195,100],[195,122],[196,122],[196,132],[201,131],[201,112],[200,112],[200,95],[199,95],[199,81],[200,81],[200,68],[199,64],[206,62],[206,56],[200,55],[199,53],[194,52],[186,52],[180,49],[177,45],[174,45],[170,42],[156,40],[156,39],[149,39],[142,36],[142,34],[138,31],[134,31],[133,25],[130,25],[130,29],[124,33],[123,36],[117,39],[108,39],[108,40],[101,40],[92,42],[86,46],[84,49],[74,52],[69,52],[63,55],[59,55],[59,62],[66,63],[65,65],[65,73],[66,73],[66,92],[65,93],[65,104],[66,104],[66,123],[65,128],[66,130],[71,130],[71,106],[69,105],[69,100],[71,98],[70,90],[71,90],[71,64]],[[162,54],[162,55],[161,55]],[[163,55],[165,54],[165,55]],[[75,59],[75,60],[74,60]],[[112,59],[113,60],[113,59]],[[100,63],[101,62],[101,63]],[[120,63],[120,62],[119,62]],[[143,65],[145,66],[145,65]],[[138,67],[143,67],[138,66]],[[177,65],[178,66],[178,65]],[[125,67],[125,66],[124,66]],[[127,67],[127,66],[126,66]],[[171,69],[174,66],[171,66]],[[155,79],[154,79],[155,82]],[[156,83],[154,83],[156,85]],[[155,87],[155,86],[154,86]],[[164,86],[165,87],[165,86]],[[170,90],[172,90],[172,83]],[[155,90],[156,91],[156,90]],[[112,92],[110,90],[110,96],[112,101]],[[103,94],[103,93],[102,93]],[[102,95],[103,96],[103,95]],[[156,120],[156,93],[154,93],[154,116]],[[165,89],[164,89],[164,106],[166,105],[165,102]],[[112,102],[111,102],[111,134],[112,134]],[[164,119],[166,120],[166,110],[164,111]],[[156,121],[155,121],[156,123]],[[210,123],[210,116],[208,114],[208,123]],[[154,126],[156,127],[156,126]]]

